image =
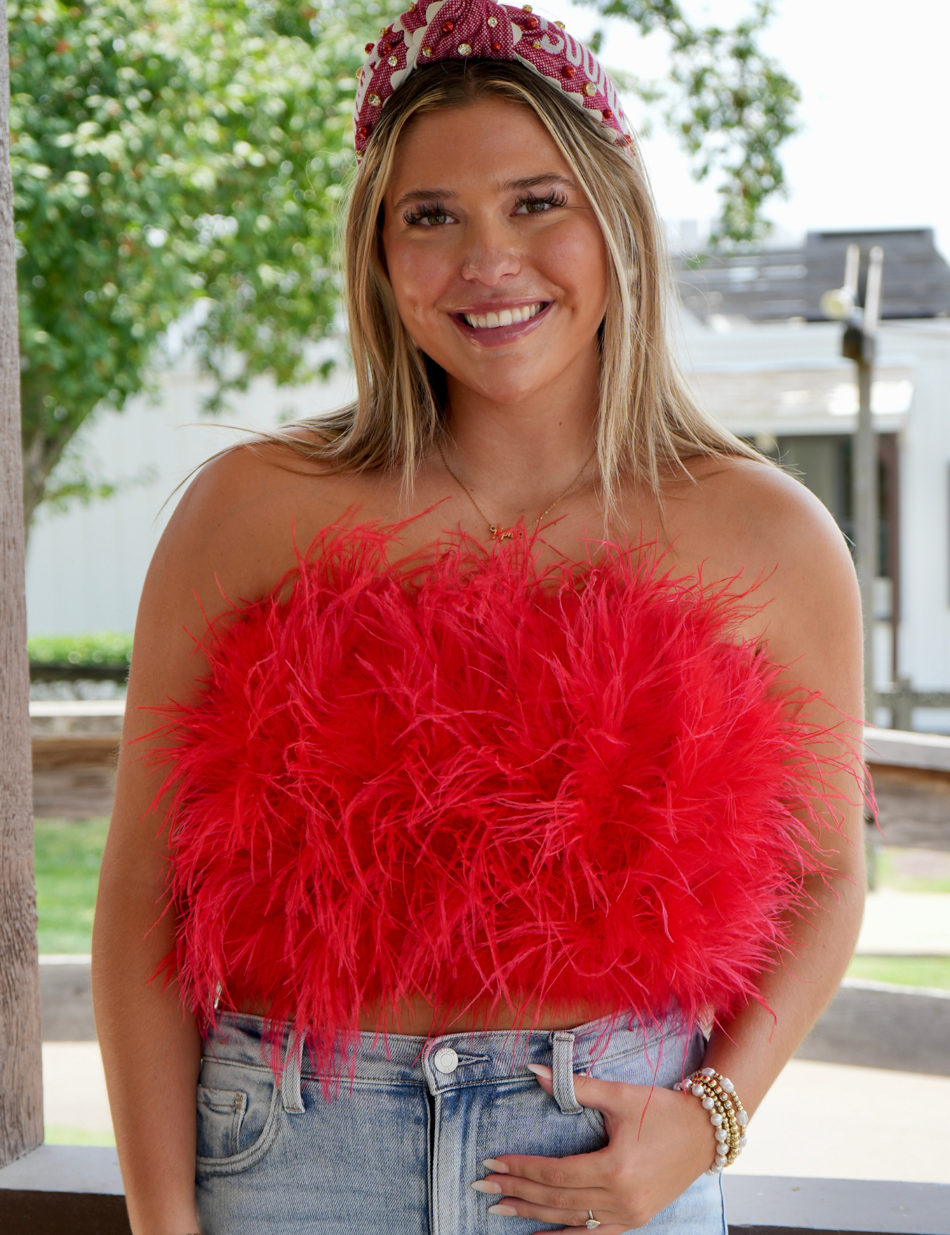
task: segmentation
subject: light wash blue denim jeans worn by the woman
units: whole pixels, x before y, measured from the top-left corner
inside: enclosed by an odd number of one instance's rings
[[[280,1083],[263,1057],[264,1021],[225,1015],[205,1042],[198,1088],[196,1195],[203,1235],[529,1235],[557,1230],[489,1214],[474,1192],[502,1153],[561,1157],[600,1149],[599,1112],[574,1072],[670,1087],[702,1060],[699,1030],[605,1021],[573,1030],[361,1035],[356,1070],[327,1100],[300,1044]],[[553,1068],[555,1097],[525,1063]],[[712,1146],[712,1141],[710,1141]],[[712,1152],[712,1150],[710,1150]],[[650,1235],[725,1235],[718,1176],[700,1176],[646,1226]]]

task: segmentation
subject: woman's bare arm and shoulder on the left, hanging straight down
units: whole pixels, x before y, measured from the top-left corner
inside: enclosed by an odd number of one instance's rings
[[[290,509],[299,494],[288,499],[285,484],[284,473],[246,451],[206,468],[162,536],[140,603],[93,932],[96,1029],[135,1235],[198,1231],[201,1053],[177,986],[149,982],[172,948],[174,921],[162,915],[167,803],[149,809],[164,772],[143,760],[158,742],[136,739],[161,724],[147,708],[199,692],[208,662],[191,636],[227,609],[222,589],[233,599],[257,597],[293,566]]]

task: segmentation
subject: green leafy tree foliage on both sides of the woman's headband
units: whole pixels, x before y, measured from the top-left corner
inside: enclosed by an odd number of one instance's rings
[[[721,233],[755,238],[796,100],[757,48],[768,0],[730,31],[694,27],[668,0],[588,2],[671,36],[667,119],[698,174],[723,179]],[[258,373],[314,375],[338,308],[356,72],[367,31],[403,6],[11,0],[27,525],[43,500],[114,490],[70,442],[96,408],[147,387],[189,306],[212,406]]]

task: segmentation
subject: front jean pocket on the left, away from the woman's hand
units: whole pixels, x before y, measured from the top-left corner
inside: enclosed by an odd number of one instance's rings
[[[269,1068],[204,1058],[196,1094],[198,1168],[243,1171],[267,1153],[279,1126],[280,1091]]]

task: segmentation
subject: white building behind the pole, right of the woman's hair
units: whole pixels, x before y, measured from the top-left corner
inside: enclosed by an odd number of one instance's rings
[[[683,361],[703,405],[733,432],[780,454],[847,534],[857,388],[855,366],[841,357],[841,327],[710,327],[684,315]],[[909,678],[917,689],[948,690],[950,321],[881,327],[871,403],[882,480],[876,678],[878,685]]]

